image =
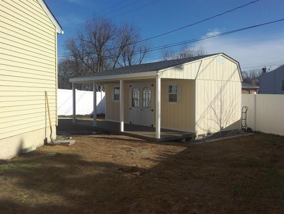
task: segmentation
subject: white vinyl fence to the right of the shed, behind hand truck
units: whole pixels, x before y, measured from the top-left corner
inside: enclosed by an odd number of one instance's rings
[[[284,95],[242,94],[247,126],[254,131],[284,135]]]

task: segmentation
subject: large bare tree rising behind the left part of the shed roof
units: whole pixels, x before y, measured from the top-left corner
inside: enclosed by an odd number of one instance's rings
[[[65,42],[68,56],[58,66],[61,87],[66,86],[66,78],[142,63],[149,45],[140,40],[140,32],[133,24],[117,26],[107,18],[87,21],[74,38]]]

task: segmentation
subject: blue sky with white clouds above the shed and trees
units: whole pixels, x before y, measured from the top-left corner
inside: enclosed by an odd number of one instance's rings
[[[93,16],[125,21],[150,38],[253,0],[45,0],[64,30],[57,37],[58,56],[66,54],[64,43],[74,37],[84,22]],[[200,24],[149,40],[153,47],[204,37],[284,18],[283,0],[260,0],[239,10]],[[75,23],[74,23],[75,22]],[[242,70],[284,63],[284,21],[191,43],[207,54],[224,52],[240,62]],[[173,48],[178,50],[180,47]],[[144,62],[160,60],[161,50],[149,53]]]

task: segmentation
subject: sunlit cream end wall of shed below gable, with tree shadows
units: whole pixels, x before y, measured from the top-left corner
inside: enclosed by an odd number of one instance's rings
[[[240,128],[241,82],[197,80],[197,134]]]

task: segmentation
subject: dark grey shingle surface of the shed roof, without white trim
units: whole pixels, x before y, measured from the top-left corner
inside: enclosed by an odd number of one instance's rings
[[[92,75],[87,75],[83,77],[99,77],[99,76],[108,76],[108,75],[120,75],[120,74],[132,74],[132,73],[139,73],[139,72],[152,72],[154,70],[161,70],[168,67],[173,67],[179,64],[203,59],[209,56],[218,55],[216,54],[208,54],[203,56],[196,56],[196,57],[189,57],[184,59],[174,59],[174,60],[167,60],[167,61],[160,61],[160,62],[150,62],[144,64],[137,64],[137,65],[130,65],[125,67],[114,68],[110,70],[104,70],[100,73],[95,73]]]

